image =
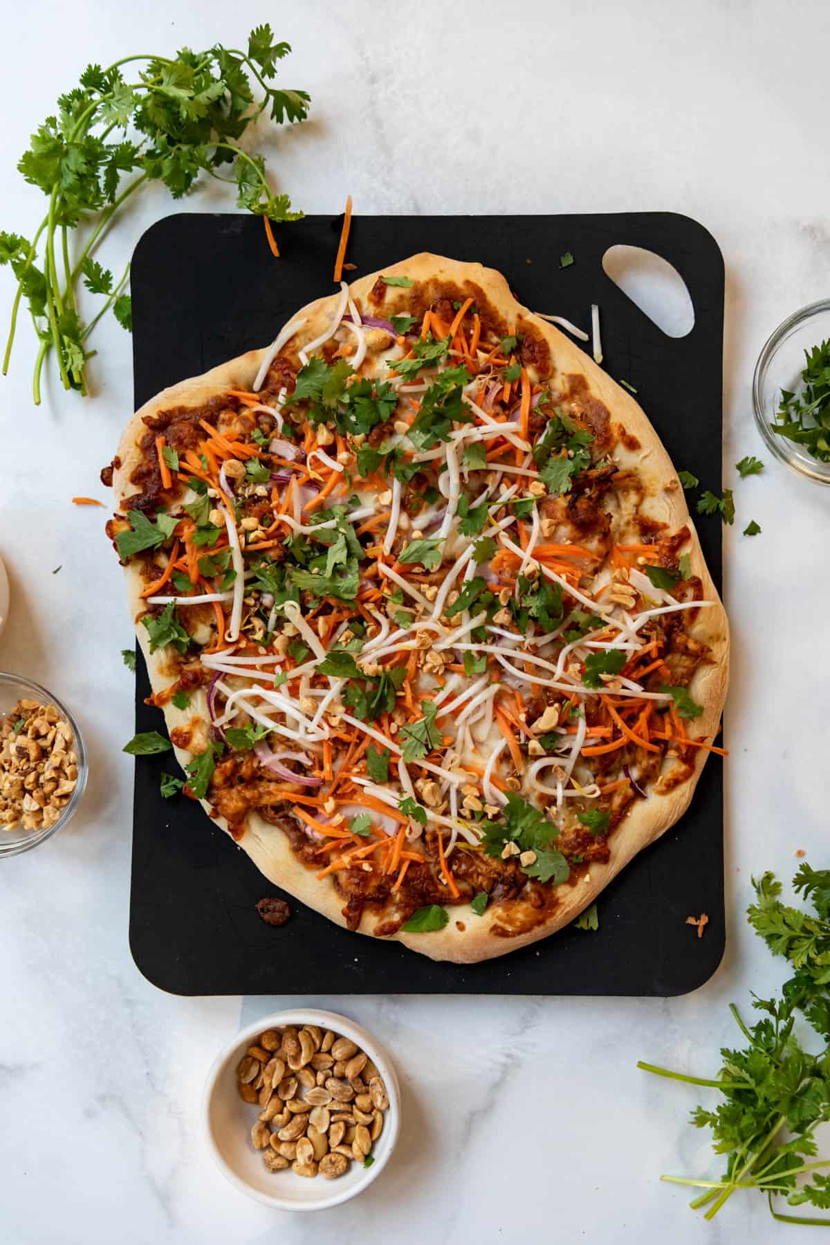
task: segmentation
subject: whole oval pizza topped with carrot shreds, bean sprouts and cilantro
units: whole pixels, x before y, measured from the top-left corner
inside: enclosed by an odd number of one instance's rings
[[[441,960],[574,920],[686,810],[728,627],[633,397],[431,254],[129,421],[107,524],[183,788],[273,883]]]

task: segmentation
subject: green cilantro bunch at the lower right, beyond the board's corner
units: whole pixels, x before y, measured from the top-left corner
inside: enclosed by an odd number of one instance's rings
[[[803,864],[793,886],[810,899],[814,911],[786,905],[781,886],[772,873],[753,879],[757,903],[748,909],[749,924],[764,939],[773,955],[785,956],[793,976],[779,997],[753,997],[762,1020],[748,1026],[730,1005],[732,1015],[747,1045],[722,1050],[722,1066],[714,1079],[668,1072],[651,1063],[637,1067],[657,1076],[719,1091],[723,1101],[714,1109],[698,1107],[692,1113],[697,1128],[708,1128],[716,1154],[727,1155],[720,1180],[663,1177],[674,1184],[697,1185],[706,1191],[691,1205],[708,1206],[712,1219],[738,1189],[758,1189],[768,1198],[774,1219],[790,1224],[821,1224],[830,1219],[786,1215],[774,1209],[774,1198],[786,1198],[790,1206],[809,1203],[830,1209],[830,1159],[810,1162],[818,1154],[815,1130],[830,1122],[830,870]],[[801,1046],[796,1025],[806,1023],[823,1038],[818,1053]],[[796,1184],[809,1174],[806,1184]]]

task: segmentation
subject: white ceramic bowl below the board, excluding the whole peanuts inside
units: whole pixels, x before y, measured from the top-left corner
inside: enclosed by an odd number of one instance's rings
[[[342,1037],[350,1037],[377,1066],[389,1097],[385,1112],[383,1132],[372,1149],[375,1162],[365,1168],[352,1163],[345,1175],[327,1180],[296,1175],[287,1168],[269,1172],[263,1163],[263,1152],[255,1150],[250,1130],[258,1108],[243,1102],[236,1088],[236,1068],[245,1051],[266,1028],[285,1025],[319,1025],[331,1028]],[[401,1127],[401,1089],[394,1068],[382,1046],[365,1028],[338,1016],[336,1012],[300,1008],[263,1016],[256,1023],[241,1030],[217,1058],[208,1073],[202,1098],[202,1119],[208,1145],[219,1170],[233,1185],[249,1198],[274,1206],[276,1210],[327,1210],[362,1193],[386,1167],[394,1149]]]

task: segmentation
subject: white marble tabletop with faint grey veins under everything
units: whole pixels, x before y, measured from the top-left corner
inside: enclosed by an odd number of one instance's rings
[[[314,97],[307,126],[273,142],[280,179],[309,212],[340,210],[351,189],[361,212],[667,208],[708,225],[727,261],[725,482],[735,459],[762,454],[749,402],[757,352],[830,286],[823,0],[10,5],[1,224],[29,232],[40,219],[40,194],[14,163],[87,60],[233,44],[263,20],[294,44],[284,81]],[[215,202],[195,194],[185,208]],[[166,192],[148,190],[102,258],[119,271],[170,210]],[[0,273],[4,306],[10,289]],[[696,1092],[635,1062],[714,1069],[718,1046],[737,1036],[727,1002],[781,977],[742,918],[750,874],[789,875],[796,848],[826,863],[830,494],[774,462],[735,487],[728,949],[716,977],[668,1001],[311,996],[392,1047],[404,1132],[357,1201],[311,1218],[269,1213],[213,1170],[198,1103],[240,1018],[295,1000],[170,997],[139,976],[127,946],[133,767],[119,745],[132,733],[132,680],[119,650],[132,639],[103,512],[68,499],[103,496],[97,472],[132,410],[129,342],[114,322],[102,327],[95,401],[50,385],[34,411],[26,327],[0,385],[0,552],[14,598],[0,667],[77,707],[91,781],[66,833],[0,867],[4,1241],[773,1239],[760,1198],[734,1198],[709,1226],[660,1184],[661,1172],[717,1164],[686,1124]],[[740,535],[749,518],[763,527],[754,540]],[[785,659],[770,677],[776,649]]]

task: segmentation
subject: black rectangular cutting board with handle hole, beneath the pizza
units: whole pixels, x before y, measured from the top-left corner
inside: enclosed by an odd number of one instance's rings
[[[166,385],[264,346],[305,303],[333,289],[341,218],[307,217],[279,229],[271,258],[250,215],[172,215],[136,248],[132,268],[136,405]],[[652,249],[684,279],[696,322],[667,337],[605,275],[602,255]],[[589,327],[602,314],[605,367],[635,385],[677,467],[719,488],[723,258],[707,230],[667,212],[615,215],[356,217],[355,274],[422,250],[482,260],[521,303]],[[571,251],[575,263],[560,268]],[[701,539],[720,580],[720,523]],[[139,656],[136,730],[163,730],[144,705]],[[182,995],[510,994],[677,995],[717,969],[724,947],[722,762],[707,763],[691,810],[641,853],[599,899],[600,929],[565,929],[498,960],[433,964],[396,942],[350,934],[290,895],[273,929],[256,900],[279,894],[198,804],[162,799],[164,757],[136,764],[129,940],[157,986]],[[686,918],[706,911],[704,937]],[[475,918],[473,918],[475,919]]]

